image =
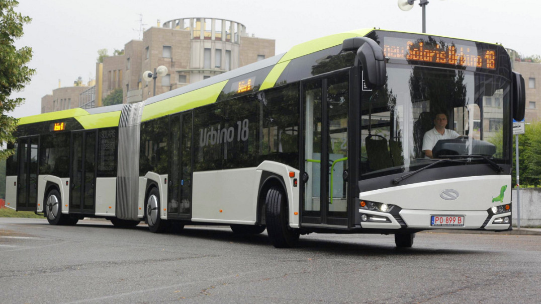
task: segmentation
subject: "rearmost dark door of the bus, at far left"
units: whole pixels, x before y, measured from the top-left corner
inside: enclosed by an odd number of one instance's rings
[[[39,137],[18,140],[17,211],[37,210]]]

